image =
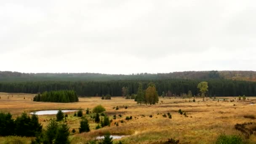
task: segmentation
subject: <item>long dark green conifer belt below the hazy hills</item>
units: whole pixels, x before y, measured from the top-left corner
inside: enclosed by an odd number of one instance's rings
[[[181,96],[181,93],[197,95],[200,91],[197,89],[198,83],[202,80],[116,80],[101,82],[86,81],[37,81],[37,82],[0,82],[0,91],[9,93],[43,93],[44,91],[73,90],[80,96],[102,96],[110,94],[111,96],[122,96],[122,88],[127,87],[128,95],[138,91],[139,83],[143,89],[147,89],[147,84],[155,83],[158,95],[162,92],[168,93],[168,96]],[[211,79],[208,82],[207,96],[255,96],[256,82]]]

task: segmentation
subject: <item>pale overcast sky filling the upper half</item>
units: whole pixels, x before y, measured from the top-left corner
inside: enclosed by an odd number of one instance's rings
[[[256,71],[255,0],[0,0],[0,71]]]

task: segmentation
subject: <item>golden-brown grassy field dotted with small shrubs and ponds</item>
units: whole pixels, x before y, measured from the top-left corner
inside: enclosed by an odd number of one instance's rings
[[[92,109],[96,105],[101,104],[106,108],[105,114],[110,119],[113,115],[117,115],[117,119],[113,120],[109,127],[95,130],[96,123],[90,116],[85,115],[89,122],[91,131],[88,133],[77,133],[80,125],[80,118],[73,117],[74,112],[68,113],[67,123],[70,126],[70,131],[74,128],[77,132],[70,136],[72,144],[85,144],[86,141],[95,139],[106,131],[116,135],[130,135],[119,139],[124,144],[157,144],[159,141],[167,141],[167,139],[179,139],[179,144],[213,144],[217,136],[221,133],[240,134],[235,130],[234,125],[237,123],[256,122],[256,119],[245,118],[246,115],[255,115],[256,104],[255,97],[249,97],[249,100],[241,100],[235,97],[226,97],[228,100],[219,101],[222,99],[174,99],[160,98],[159,103],[155,105],[139,105],[130,99],[122,97],[112,97],[111,100],[101,100],[100,97],[80,98],[79,102],[75,103],[51,103],[51,102],[35,102],[32,101],[35,94],[25,93],[0,93],[0,111],[11,112],[13,117],[20,115],[22,112],[32,112],[37,110],[50,109]],[[24,99],[25,98],[25,99]],[[234,101],[230,101],[233,100]],[[119,110],[113,107],[119,107]],[[128,109],[124,107],[128,106]],[[180,115],[178,110],[186,112],[188,117]],[[172,119],[163,117],[163,114],[170,112]],[[119,117],[118,115],[122,115]],[[149,117],[152,115],[152,117]],[[132,116],[132,120],[125,120],[126,116]],[[43,127],[48,123],[48,120],[54,118],[55,115],[39,116],[40,123]],[[120,123],[124,120],[124,123]],[[119,126],[114,123],[118,122]],[[0,137],[0,144],[8,143],[10,139],[21,139],[29,143],[32,138],[14,138]],[[256,144],[256,136],[251,135],[250,143]],[[253,142],[254,141],[254,142]]]

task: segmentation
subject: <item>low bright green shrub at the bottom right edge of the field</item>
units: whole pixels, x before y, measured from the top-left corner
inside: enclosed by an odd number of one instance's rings
[[[243,138],[240,136],[221,134],[217,138],[216,144],[248,144],[248,143],[244,141]]]

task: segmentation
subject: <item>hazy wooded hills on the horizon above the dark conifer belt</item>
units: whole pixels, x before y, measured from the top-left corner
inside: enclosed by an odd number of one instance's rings
[[[165,80],[165,79],[230,79],[256,81],[254,71],[188,71],[171,73],[140,73],[107,75],[99,73],[21,73],[1,72],[0,82],[22,81],[110,81],[110,80]]]

